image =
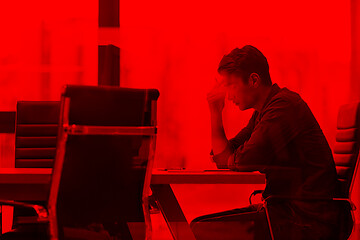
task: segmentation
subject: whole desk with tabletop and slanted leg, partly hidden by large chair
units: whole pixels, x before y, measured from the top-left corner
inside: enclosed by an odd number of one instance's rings
[[[0,168],[0,199],[47,200],[52,169]],[[176,240],[195,240],[170,184],[264,184],[265,176],[253,172],[161,171],[151,179],[153,196]]]

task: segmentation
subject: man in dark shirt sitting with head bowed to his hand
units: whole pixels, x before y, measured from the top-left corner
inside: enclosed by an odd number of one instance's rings
[[[218,168],[265,173],[263,198],[335,197],[338,180],[328,142],[299,94],[272,84],[266,57],[253,46],[236,48],[223,57],[218,72],[222,79],[207,97]],[[222,122],[226,94],[241,111],[255,109],[230,140]],[[352,226],[350,210],[331,201],[283,200],[268,209],[275,239],[338,239],[344,211]],[[191,226],[198,240],[269,239],[262,204],[202,216]]]

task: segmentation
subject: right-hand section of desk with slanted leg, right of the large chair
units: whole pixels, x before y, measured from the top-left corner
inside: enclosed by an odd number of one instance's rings
[[[151,190],[176,240],[195,240],[170,184],[264,184],[265,176],[254,172],[154,170]]]

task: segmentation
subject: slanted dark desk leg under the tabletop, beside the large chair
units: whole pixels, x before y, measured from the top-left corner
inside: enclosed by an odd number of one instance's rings
[[[196,240],[169,184],[151,185],[151,190],[175,240]]]

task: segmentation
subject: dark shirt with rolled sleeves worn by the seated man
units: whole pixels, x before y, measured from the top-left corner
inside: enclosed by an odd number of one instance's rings
[[[258,170],[267,179],[264,198],[336,195],[337,176],[331,149],[311,110],[297,93],[274,84],[262,110],[254,112],[248,128],[250,134],[241,136],[243,143],[237,139],[239,136],[230,140],[234,149],[233,167],[236,170],[246,165],[261,166]],[[282,201],[271,207],[275,219],[282,212],[287,217],[303,216],[302,223],[336,224],[339,211],[332,202]]]

